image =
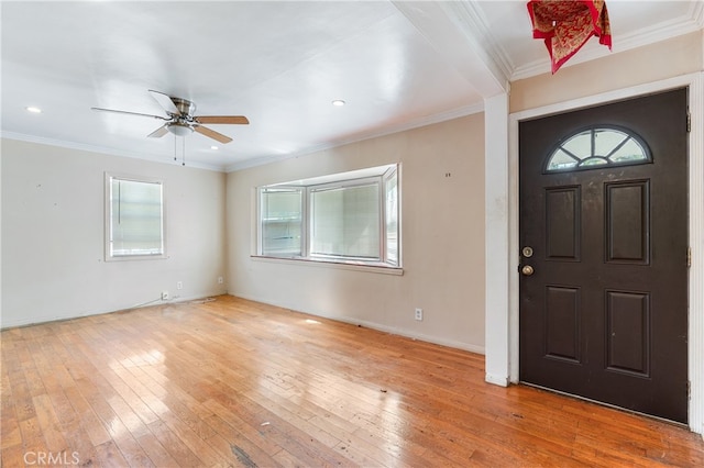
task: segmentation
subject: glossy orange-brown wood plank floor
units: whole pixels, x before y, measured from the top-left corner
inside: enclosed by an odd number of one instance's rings
[[[2,332],[14,466],[704,466],[685,428],[232,297]]]

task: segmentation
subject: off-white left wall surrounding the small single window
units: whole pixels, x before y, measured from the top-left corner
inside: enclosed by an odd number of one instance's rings
[[[165,181],[168,258],[105,261],[105,171]],[[2,327],[227,291],[224,174],[2,140],[1,175]]]

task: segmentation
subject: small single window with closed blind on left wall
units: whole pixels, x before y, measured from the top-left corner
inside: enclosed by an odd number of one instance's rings
[[[106,174],[106,259],[164,257],[164,186]]]

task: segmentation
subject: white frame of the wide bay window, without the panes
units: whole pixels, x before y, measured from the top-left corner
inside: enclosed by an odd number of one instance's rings
[[[396,259],[389,259],[387,246],[387,207],[386,207],[386,187],[388,180],[396,178]],[[337,188],[353,188],[376,185],[378,188],[378,257],[373,259],[365,257],[348,257],[338,255],[311,254],[311,232],[312,232],[312,193]],[[273,255],[265,254],[264,247],[264,229],[263,229],[263,194],[271,189],[280,190],[299,190],[301,193],[301,255]],[[358,171],[332,174],[323,177],[309,178],[293,182],[273,183],[260,186],[255,190],[256,213],[255,213],[255,235],[256,252],[252,255],[255,258],[277,259],[277,260],[295,260],[309,261],[314,264],[333,264],[361,267],[378,267],[383,269],[402,268],[402,241],[400,241],[400,165],[392,164],[378,166]]]

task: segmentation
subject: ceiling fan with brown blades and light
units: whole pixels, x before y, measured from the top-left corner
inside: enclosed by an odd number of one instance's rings
[[[230,143],[232,138],[215,130],[202,126],[204,123],[212,124],[240,124],[246,125],[250,121],[244,115],[194,115],[196,103],[187,99],[175,98],[160,91],[148,90],[150,94],[164,108],[168,116],[143,114],[139,112],[119,111],[114,109],[91,108],[94,111],[117,112],[128,115],[140,115],[165,121],[164,125],[150,133],[147,136],[158,138],[167,133],[176,136],[186,136],[198,132],[220,143]]]

